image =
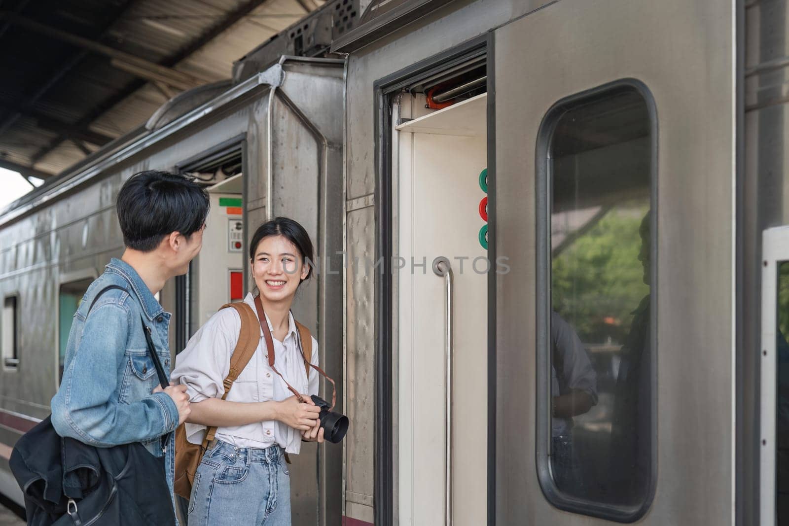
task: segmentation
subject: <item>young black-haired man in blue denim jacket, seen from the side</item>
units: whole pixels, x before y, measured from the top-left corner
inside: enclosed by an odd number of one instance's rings
[[[110,260],[74,315],[62,383],[51,403],[58,435],[97,447],[141,442],[164,457],[170,494],[171,431],[189,415],[189,398],[186,386],[159,386],[143,325],[169,377],[170,313],[155,294],[185,274],[200,252],[208,204],[208,194],[181,175],[150,170],[125,182],[116,203],[125,252]],[[103,293],[91,308],[107,285],[122,289]]]

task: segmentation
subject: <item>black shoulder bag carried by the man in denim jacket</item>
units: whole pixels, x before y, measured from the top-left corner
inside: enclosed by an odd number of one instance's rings
[[[118,285],[101,289],[88,313],[110,289],[125,290]],[[150,328],[141,316],[140,323],[159,383],[165,388],[169,382]],[[151,455],[140,442],[89,446],[58,436],[47,416],[17,440],[9,464],[24,493],[30,525],[175,524],[163,459]]]

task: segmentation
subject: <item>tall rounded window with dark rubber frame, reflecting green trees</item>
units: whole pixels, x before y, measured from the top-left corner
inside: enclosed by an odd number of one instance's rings
[[[626,82],[559,103],[540,152],[540,480],[555,505],[615,520],[645,511],[653,487],[655,123],[645,93]]]

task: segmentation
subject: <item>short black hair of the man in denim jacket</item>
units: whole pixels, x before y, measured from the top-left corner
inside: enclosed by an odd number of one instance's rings
[[[203,227],[209,204],[208,192],[192,177],[146,170],[124,183],[115,210],[124,244],[151,252],[170,233],[189,239]]]

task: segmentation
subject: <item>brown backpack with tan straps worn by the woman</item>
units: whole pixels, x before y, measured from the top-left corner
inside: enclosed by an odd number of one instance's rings
[[[230,387],[236,381],[238,375],[244,370],[246,364],[255,354],[257,345],[260,343],[260,326],[268,325],[263,323],[259,324],[255,316],[255,312],[245,302],[224,304],[222,308],[234,308],[241,316],[241,332],[238,335],[238,343],[236,348],[233,349],[233,355],[230,356],[230,372],[227,373],[222,385],[225,387],[225,393],[222,394],[222,400],[225,400],[227,394],[230,392]],[[221,310],[221,309],[220,309]],[[263,319],[261,319],[263,321]],[[309,378],[310,360],[312,360],[312,335],[309,333],[307,327],[296,322],[296,326],[301,339],[301,351],[304,353],[305,368],[307,370],[307,377]],[[268,331],[266,331],[268,332]],[[269,337],[270,338],[270,337]],[[268,339],[268,338],[267,338]],[[273,349],[272,345],[269,345]],[[274,355],[271,353],[271,357]],[[181,497],[189,498],[192,494],[192,483],[195,479],[197,467],[200,461],[203,460],[203,455],[208,450],[208,445],[214,439],[216,434],[216,427],[208,427],[205,432],[202,444],[193,444],[186,439],[186,426],[181,424],[175,430],[175,493]]]

